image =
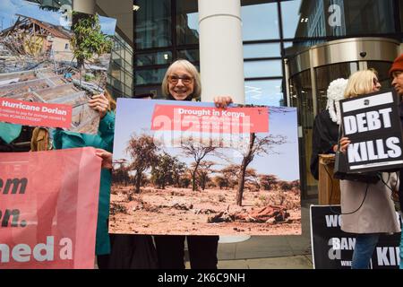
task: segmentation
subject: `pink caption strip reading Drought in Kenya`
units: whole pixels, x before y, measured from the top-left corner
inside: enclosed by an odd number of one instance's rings
[[[156,105],[151,130],[219,134],[269,132],[269,109]]]

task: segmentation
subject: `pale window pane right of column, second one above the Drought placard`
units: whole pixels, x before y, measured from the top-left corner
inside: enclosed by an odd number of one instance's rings
[[[281,60],[244,62],[244,77],[282,76]]]

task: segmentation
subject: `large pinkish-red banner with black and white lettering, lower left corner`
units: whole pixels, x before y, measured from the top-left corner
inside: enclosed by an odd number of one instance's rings
[[[93,148],[0,153],[0,269],[92,269],[100,159]]]

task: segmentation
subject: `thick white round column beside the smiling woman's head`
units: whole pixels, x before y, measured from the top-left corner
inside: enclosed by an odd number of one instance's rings
[[[244,103],[240,0],[199,0],[201,100]]]

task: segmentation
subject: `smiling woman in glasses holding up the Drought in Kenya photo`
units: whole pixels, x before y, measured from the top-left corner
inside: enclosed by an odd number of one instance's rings
[[[167,69],[162,81],[167,100],[199,100],[201,79],[196,67],[187,60],[176,60]],[[215,97],[218,108],[226,109],[231,97]],[[187,240],[192,269],[217,269],[219,236],[154,236],[159,268],[184,269],[184,239]]]

